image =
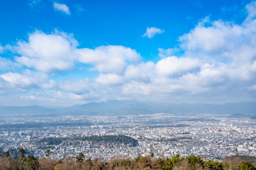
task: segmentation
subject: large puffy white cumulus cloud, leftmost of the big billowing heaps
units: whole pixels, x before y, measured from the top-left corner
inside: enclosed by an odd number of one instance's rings
[[[18,41],[14,47],[21,57],[16,61],[43,72],[70,70],[73,64],[72,49],[78,45],[72,35],[55,32],[46,34],[35,31],[28,42]]]

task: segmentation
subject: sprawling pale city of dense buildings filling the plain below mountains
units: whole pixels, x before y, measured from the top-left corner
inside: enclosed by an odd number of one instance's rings
[[[41,123],[51,126],[36,127]],[[66,156],[75,158],[80,152],[84,153],[86,159],[104,161],[116,157],[134,159],[152,152],[156,157],[198,155],[204,156],[206,160],[219,161],[237,154],[256,156],[256,121],[248,117],[170,113],[126,116],[38,115],[4,117],[0,125],[2,151],[9,150],[12,154],[12,150],[24,148],[27,155],[36,158],[45,157],[47,149],[52,151],[50,158],[57,160]],[[34,127],[19,128],[20,125]],[[138,143],[83,140],[83,137],[108,135],[125,135]],[[46,140],[54,138],[62,140],[56,144]],[[42,140],[46,142],[40,142]],[[17,152],[13,156],[18,157]]]

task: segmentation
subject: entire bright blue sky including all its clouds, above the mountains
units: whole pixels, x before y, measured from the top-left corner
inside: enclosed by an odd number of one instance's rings
[[[248,0],[1,1],[0,105],[255,102],[255,11]]]

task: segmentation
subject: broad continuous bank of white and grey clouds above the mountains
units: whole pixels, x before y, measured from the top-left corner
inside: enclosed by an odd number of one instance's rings
[[[0,58],[0,101],[62,106],[108,100],[255,102],[256,3],[246,10],[240,25],[204,18],[178,38],[178,47],[158,49],[156,63],[144,62],[129,47],[79,48],[72,34],[36,30],[27,41],[4,47],[16,57]],[[55,78],[81,67],[84,78]]]

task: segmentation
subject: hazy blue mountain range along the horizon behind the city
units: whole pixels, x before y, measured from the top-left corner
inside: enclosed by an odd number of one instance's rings
[[[154,102],[138,102],[135,100],[113,100],[109,102],[76,104],[69,107],[42,106],[0,106],[0,115],[144,115],[154,113],[211,113],[238,114],[233,117],[249,117],[256,115],[255,102],[226,104],[170,104]],[[242,114],[242,115],[241,115]],[[247,116],[245,116],[247,115]]]

